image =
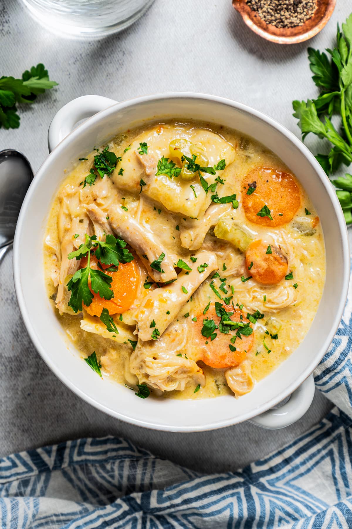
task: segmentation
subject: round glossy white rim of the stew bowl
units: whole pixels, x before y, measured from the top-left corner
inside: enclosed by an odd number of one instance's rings
[[[97,400],[98,397],[91,397],[90,395],[86,394],[80,387],[78,387],[78,384],[71,382],[71,380],[68,379],[68,377],[65,375],[65,373],[62,370],[60,370],[59,368],[56,368],[55,364],[50,358],[50,355],[47,354],[45,349],[42,347],[40,340],[37,337],[37,334],[34,331],[33,325],[31,323],[30,313],[27,310],[26,303],[25,303],[25,297],[23,294],[22,286],[21,286],[20,259],[18,259],[17,257],[20,255],[21,231],[22,231],[22,226],[24,225],[26,221],[27,206],[30,204],[32,196],[35,193],[36,188],[41,185],[42,180],[45,178],[45,175],[47,176],[47,170],[50,168],[51,160],[53,158],[52,154],[58,151],[64,152],[66,145],[69,144],[69,142],[71,141],[73,137],[79,136],[80,133],[88,127],[96,126],[101,120],[103,120],[106,116],[108,116],[111,113],[119,112],[120,110],[128,106],[139,105],[139,104],[150,103],[150,102],[157,103],[158,101],[161,101],[161,100],[167,101],[167,99],[176,99],[176,100],[177,99],[193,99],[195,103],[196,101],[198,102],[207,101],[210,103],[215,102],[215,103],[220,103],[223,105],[231,106],[232,108],[235,108],[236,110],[249,114],[250,116],[258,118],[261,121],[264,121],[266,124],[272,126],[274,129],[276,129],[281,134],[286,136],[286,138],[289,141],[291,141],[299,149],[299,151],[302,153],[302,156],[305,156],[306,158],[308,158],[308,161],[311,163],[313,169],[315,169],[317,175],[319,176],[319,179],[321,180],[322,185],[325,188],[327,195],[329,196],[329,199],[331,200],[331,203],[334,207],[334,211],[335,211],[337,221],[338,221],[338,227],[339,227],[339,232],[340,232],[339,234],[340,234],[340,239],[341,239],[341,257],[343,261],[343,281],[342,281],[342,287],[341,287],[342,295],[340,296],[340,299],[339,299],[338,310],[336,311],[334,318],[331,324],[329,325],[329,332],[326,335],[324,344],[321,346],[319,354],[317,351],[315,356],[312,358],[310,363],[307,365],[306,369],[301,372],[300,377],[292,381],[291,384],[287,386],[285,391],[281,391],[279,395],[267,401],[266,403],[260,404],[256,408],[252,408],[250,412],[244,412],[242,413],[242,415],[240,414],[237,417],[231,417],[226,420],[223,419],[220,422],[212,421],[212,422],[209,422],[203,425],[198,425],[195,427],[190,427],[190,426],[173,427],[173,426],[169,426],[165,424],[160,424],[157,421],[146,422],[142,419],[136,419],[133,417],[129,417],[128,415],[125,415],[124,413],[121,413],[120,411],[116,411],[115,409],[112,409],[108,407],[107,405],[100,403]],[[341,209],[335,190],[330,184],[328,177],[326,176],[324,170],[321,168],[319,162],[316,160],[313,154],[306,147],[306,145],[303,144],[301,140],[296,135],[294,135],[290,130],[288,130],[286,127],[284,127],[283,125],[275,121],[272,117],[268,116],[267,114],[264,114],[261,111],[255,110],[254,108],[251,108],[248,105],[244,105],[243,103],[235,102],[229,98],[214,96],[214,95],[204,94],[204,93],[195,93],[195,92],[156,93],[156,94],[150,94],[150,95],[126,99],[125,101],[117,102],[116,104],[108,107],[106,110],[103,110],[97,114],[94,114],[93,116],[88,118],[86,121],[84,121],[82,124],[80,124],[78,127],[76,127],[68,136],[66,136],[58,145],[56,145],[56,147],[46,157],[46,159],[43,161],[40,168],[37,170],[35,178],[33,179],[32,184],[30,188],[28,189],[28,192],[23,201],[20,215],[18,216],[15,238],[14,238],[14,246],[13,246],[14,286],[15,286],[15,293],[17,297],[18,306],[20,307],[20,312],[23,318],[23,322],[25,324],[26,330],[28,334],[30,335],[30,338],[36,350],[39,352],[44,362],[51,369],[51,371],[53,371],[56,377],[58,377],[63,382],[63,384],[65,384],[66,387],[68,387],[71,391],[73,391],[73,393],[75,393],[80,398],[82,398],[85,402],[96,407],[100,411],[107,413],[110,416],[118,418],[129,424],[147,427],[147,428],[151,428],[154,430],[172,431],[172,432],[207,431],[207,430],[214,430],[217,428],[222,428],[222,427],[238,424],[243,421],[247,421],[248,419],[251,419],[255,417],[256,415],[260,415],[261,413],[265,411],[268,411],[268,409],[270,409],[272,406],[278,404],[282,399],[292,394],[293,391],[296,390],[302,384],[302,382],[304,382],[309,377],[309,375],[313,372],[313,370],[318,366],[319,362],[324,357],[325,353],[327,352],[332,342],[332,339],[334,338],[336,334],[336,331],[340,324],[341,316],[343,315],[343,311],[344,311],[345,304],[346,304],[346,299],[347,299],[347,294],[348,294],[348,285],[349,285],[349,271],[350,271],[349,240],[348,240],[348,231],[347,231],[347,226],[346,226],[343,211]]]

